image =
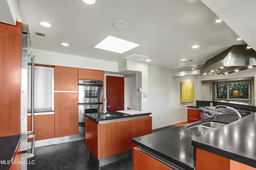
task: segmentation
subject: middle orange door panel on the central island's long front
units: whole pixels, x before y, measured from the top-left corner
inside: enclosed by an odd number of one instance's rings
[[[132,120],[117,122],[117,152],[132,149]]]

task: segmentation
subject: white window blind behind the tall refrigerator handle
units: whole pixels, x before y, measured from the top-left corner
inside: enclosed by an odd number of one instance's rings
[[[34,111],[54,110],[54,68],[34,66]],[[31,111],[31,65],[28,65],[28,112]]]

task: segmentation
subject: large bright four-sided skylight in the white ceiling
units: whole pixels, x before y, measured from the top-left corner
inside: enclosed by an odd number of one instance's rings
[[[108,36],[102,42],[98,43],[94,48],[104,49],[116,53],[124,53],[130,49],[138,47],[140,44],[122,40],[113,36]]]

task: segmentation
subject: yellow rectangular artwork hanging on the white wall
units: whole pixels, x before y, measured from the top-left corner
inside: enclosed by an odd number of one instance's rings
[[[180,103],[194,101],[194,83],[180,82]]]

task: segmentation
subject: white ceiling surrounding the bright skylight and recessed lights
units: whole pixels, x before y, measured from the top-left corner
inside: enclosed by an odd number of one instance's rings
[[[115,62],[137,53],[149,56],[150,65],[180,69],[202,65],[232,45],[246,44],[237,41],[237,34],[224,22],[216,23],[216,14],[200,0],[96,0],[93,5],[82,0],[19,0],[19,4],[32,48],[47,51]],[[113,28],[116,20],[128,26]],[[41,26],[41,21],[52,27]],[[36,39],[34,30],[46,32],[45,39]],[[122,54],[94,48],[109,35],[140,46]],[[196,44],[200,47],[192,49]]]

